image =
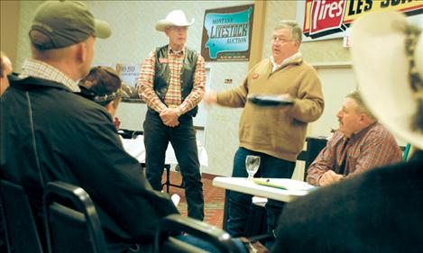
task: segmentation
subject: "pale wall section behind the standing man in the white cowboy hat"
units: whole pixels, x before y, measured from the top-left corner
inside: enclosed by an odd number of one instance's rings
[[[232,5],[248,5],[253,1],[119,1],[87,2],[93,14],[112,26],[114,34],[107,42],[96,45],[95,62],[141,63],[155,47],[167,43],[163,32],[156,32],[154,25],[173,9],[179,8],[188,18],[195,18],[189,27],[188,47],[200,51],[204,13]],[[116,15],[118,13],[118,15]],[[100,40],[98,40],[100,41]],[[248,62],[207,63],[210,68],[210,88],[224,90],[242,82],[248,70]],[[224,85],[225,78],[234,85]],[[121,104],[117,116],[123,128],[141,130],[145,104]],[[207,112],[206,129],[200,132],[200,140],[207,149],[208,167],[203,172],[215,175],[231,175],[234,151],[238,146],[238,119],[240,110],[211,108]]]

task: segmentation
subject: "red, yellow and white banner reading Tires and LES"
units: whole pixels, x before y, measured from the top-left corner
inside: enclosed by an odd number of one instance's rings
[[[306,0],[297,2],[297,21],[303,23],[303,41],[344,37],[351,23],[372,12],[398,11],[423,18],[421,0]]]

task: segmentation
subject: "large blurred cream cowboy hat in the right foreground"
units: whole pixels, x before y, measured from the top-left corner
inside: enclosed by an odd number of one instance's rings
[[[418,30],[421,27],[411,32],[406,17],[398,12],[363,15],[351,30],[351,57],[359,90],[372,113],[400,139],[423,149],[421,120],[419,130],[413,127],[417,113],[423,113],[423,32],[418,35]],[[406,39],[412,38],[417,43],[408,41],[406,47]],[[413,82],[414,88],[409,78],[413,72],[420,80]]]

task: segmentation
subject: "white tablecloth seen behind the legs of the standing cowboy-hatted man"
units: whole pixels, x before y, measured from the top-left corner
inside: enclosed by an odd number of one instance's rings
[[[136,139],[121,139],[124,144],[124,149],[131,156],[136,158],[140,163],[145,162],[145,147],[144,147],[144,137],[143,135],[138,135]],[[208,166],[208,157],[206,149],[198,145],[198,160],[201,166]],[[178,160],[176,159],[175,152],[173,151],[172,145],[168,145],[166,149],[166,158],[164,161],[165,164],[176,165]]]

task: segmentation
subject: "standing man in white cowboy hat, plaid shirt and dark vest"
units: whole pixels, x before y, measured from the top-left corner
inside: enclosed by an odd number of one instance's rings
[[[148,106],[143,122],[147,178],[161,190],[165,153],[169,142],[175,150],[182,174],[189,217],[204,218],[203,185],[193,117],[198,112],[206,84],[205,60],[185,47],[189,25],[180,10],[174,10],[156,24],[169,44],[152,50],[144,60],[139,94]]]

